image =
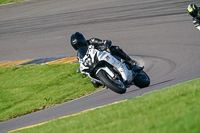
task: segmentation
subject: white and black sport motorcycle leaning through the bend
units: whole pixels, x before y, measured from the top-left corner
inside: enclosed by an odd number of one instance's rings
[[[103,86],[123,94],[132,85],[139,88],[150,85],[150,78],[143,71],[144,67],[135,65],[131,68],[120,57],[95,49],[93,45],[80,47],[77,58],[80,64],[77,73],[82,73],[83,77],[89,76],[94,87]]]

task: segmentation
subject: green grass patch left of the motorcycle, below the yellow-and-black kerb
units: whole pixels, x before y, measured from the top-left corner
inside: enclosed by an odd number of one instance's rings
[[[66,102],[97,89],[79,64],[0,67],[0,121]]]

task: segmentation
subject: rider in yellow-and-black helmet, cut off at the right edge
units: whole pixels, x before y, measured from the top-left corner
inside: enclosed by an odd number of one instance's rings
[[[194,26],[200,30],[200,7],[197,4],[189,4],[187,11],[193,17]]]

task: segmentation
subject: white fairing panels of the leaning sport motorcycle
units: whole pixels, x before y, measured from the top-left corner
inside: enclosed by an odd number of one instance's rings
[[[94,63],[95,54],[97,54],[97,58],[99,61],[106,61],[109,64],[116,67],[117,70],[120,72],[124,82],[131,81],[133,79],[132,78],[133,73],[131,70],[127,69],[125,63],[120,62],[119,60],[117,60],[115,57],[113,57],[110,53],[108,53],[106,51],[98,51],[92,45],[89,46],[84,58],[79,59],[81,73],[87,74],[86,72],[84,72],[84,70],[89,69],[89,67],[86,67],[87,65],[91,65],[92,63]],[[89,57],[91,57],[91,58],[89,58]],[[100,70],[101,69],[105,70],[111,77],[114,76],[114,74],[112,73],[112,71],[109,68],[104,67],[104,68],[100,68]],[[98,71],[97,71],[97,73],[98,73]]]

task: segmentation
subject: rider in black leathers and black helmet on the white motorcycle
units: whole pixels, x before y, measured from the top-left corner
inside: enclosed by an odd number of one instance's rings
[[[94,45],[98,50],[110,51],[112,55],[117,55],[125,60],[131,67],[136,65],[136,61],[132,60],[121,48],[118,46],[111,46],[110,40],[100,40],[98,38],[91,38],[86,40],[83,34],[76,32],[71,36],[71,45],[75,50],[78,50],[82,46]]]

